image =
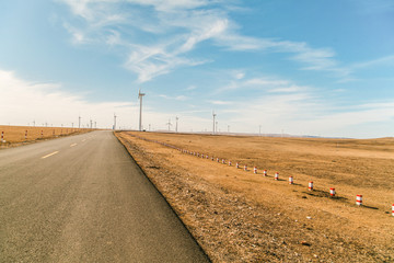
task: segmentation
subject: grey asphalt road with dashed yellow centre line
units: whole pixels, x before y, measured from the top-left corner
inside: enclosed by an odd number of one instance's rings
[[[209,262],[111,132],[0,150],[0,262]]]

